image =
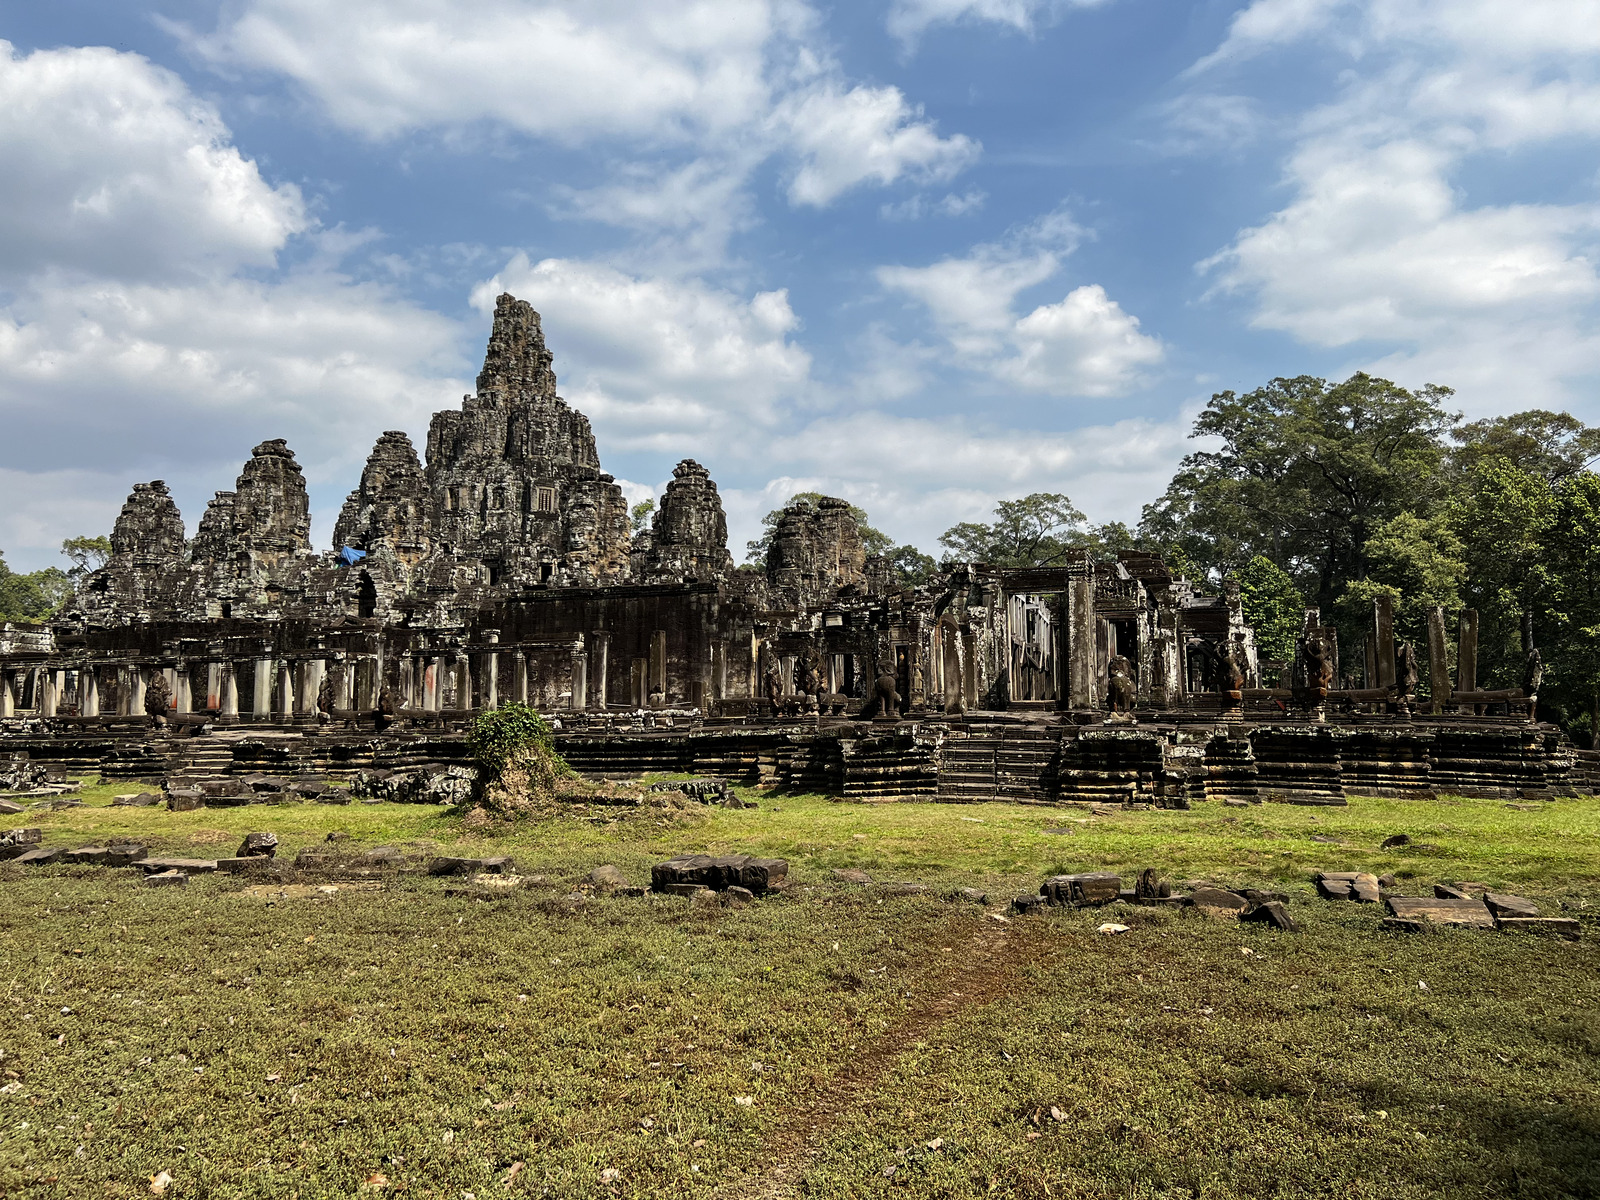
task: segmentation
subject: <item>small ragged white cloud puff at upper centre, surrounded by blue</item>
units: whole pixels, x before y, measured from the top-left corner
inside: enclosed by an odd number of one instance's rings
[[[779,106],[776,120],[800,155],[789,200],[814,208],[864,182],[942,182],[979,150],[963,134],[939,138],[899,88],[824,83]]]

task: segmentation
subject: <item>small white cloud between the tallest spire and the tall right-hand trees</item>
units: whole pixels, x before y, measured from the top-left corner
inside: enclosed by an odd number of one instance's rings
[[[1083,230],[1054,214],[1000,243],[926,267],[880,267],[878,282],[920,301],[963,366],[1050,395],[1117,395],[1162,362],[1160,341],[1085,285],[1018,315],[1022,291],[1053,278]]]

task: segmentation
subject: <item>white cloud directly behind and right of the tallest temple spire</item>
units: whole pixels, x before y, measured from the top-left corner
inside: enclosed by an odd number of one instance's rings
[[[810,355],[786,291],[750,299],[694,280],[640,278],[578,259],[517,254],[472,302],[510,291],[544,315],[563,395],[608,445],[691,453],[773,427],[806,387]]]

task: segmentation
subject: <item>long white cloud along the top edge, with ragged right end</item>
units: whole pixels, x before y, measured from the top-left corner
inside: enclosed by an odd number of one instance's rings
[[[978,142],[941,136],[894,86],[845,78],[803,0],[248,0],[181,30],[206,61],[283,75],[336,125],[386,139],[491,125],[613,141],[618,179],[578,211],[666,230],[706,256],[749,214],[766,158],[795,205],[944,181]],[[686,206],[672,203],[686,197]]]

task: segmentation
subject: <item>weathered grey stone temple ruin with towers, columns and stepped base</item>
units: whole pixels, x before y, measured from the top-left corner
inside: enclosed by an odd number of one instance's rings
[[[765,570],[736,568],[710,472],[674,470],[630,533],[589,421],[557,395],[539,315],[494,310],[477,392],[422,458],[379,435],[310,544],[282,440],[251,453],[195,536],[138,483],[107,565],[48,626],[0,629],[0,757],[211,795],[264,768],[448,766],[477,710],[558,720],[581,771],[693,771],[862,798],[1208,798],[1594,790],[1594,755],[1534,720],[1538,678],[1478,691],[1445,614],[1421,683],[1387,606],[1362,688],[1307,613],[1293,664],[1258,658],[1237,587],[1160,557],[960,563],[898,586],[850,506],[782,512]]]

